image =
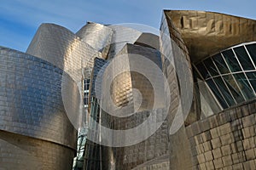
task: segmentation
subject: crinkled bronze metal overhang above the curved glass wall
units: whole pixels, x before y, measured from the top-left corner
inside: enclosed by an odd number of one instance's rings
[[[194,63],[224,48],[256,40],[256,20],[205,11],[165,10],[164,14],[172,38],[181,34]]]

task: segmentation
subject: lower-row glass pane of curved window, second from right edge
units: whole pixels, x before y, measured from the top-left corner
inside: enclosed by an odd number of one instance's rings
[[[238,86],[241,88],[241,93],[244,94],[246,99],[252,99],[254,97],[253,89],[250,87],[247,78],[243,73],[234,74]]]

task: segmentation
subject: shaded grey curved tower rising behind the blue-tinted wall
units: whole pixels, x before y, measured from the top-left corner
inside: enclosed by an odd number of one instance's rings
[[[55,24],[42,24],[26,49],[26,54],[37,56],[49,63],[64,68],[64,56],[76,39],[72,31]]]

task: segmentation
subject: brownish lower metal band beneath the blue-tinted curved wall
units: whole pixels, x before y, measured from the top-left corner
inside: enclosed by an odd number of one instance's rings
[[[0,169],[72,169],[74,150],[0,130]]]

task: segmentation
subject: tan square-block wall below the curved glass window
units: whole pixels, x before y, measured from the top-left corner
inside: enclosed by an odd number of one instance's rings
[[[186,127],[192,169],[255,169],[255,129],[255,100]]]

